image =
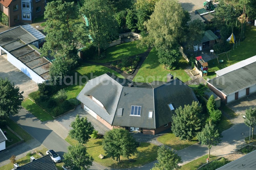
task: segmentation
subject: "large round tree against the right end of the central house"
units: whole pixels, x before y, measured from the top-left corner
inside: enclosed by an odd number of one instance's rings
[[[180,106],[175,110],[176,115],[172,119],[172,131],[181,140],[192,140],[201,130],[202,120],[200,113],[202,106],[193,101],[191,105]]]

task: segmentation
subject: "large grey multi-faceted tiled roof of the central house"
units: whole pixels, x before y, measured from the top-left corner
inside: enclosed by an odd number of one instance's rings
[[[105,109],[87,95],[99,100]],[[77,99],[111,125],[141,128],[157,128],[171,122],[175,112],[170,110],[170,103],[177,108],[198,101],[193,90],[177,78],[170,82],[134,83],[134,87],[128,87],[108,74],[90,80]],[[142,106],[140,116],[130,116],[132,105]],[[118,116],[118,108],[123,108],[122,116]],[[148,118],[149,111],[153,111],[152,118]]]

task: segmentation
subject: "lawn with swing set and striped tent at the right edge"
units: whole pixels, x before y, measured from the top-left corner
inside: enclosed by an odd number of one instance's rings
[[[240,42],[240,46],[237,45],[237,48],[235,47],[234,50],[233,50],[233,47],[231,48],[231,51],[229,54],[230,65],[256,55],[256,48],[255,48],[256,27],[252,25],[247,25],[245,35],[246,35],[246,38],[243,42]],[[224,62],[218,64],[217,58],[208,61],[209,69],[208,69],[208,75],[204,77],[205,79],[207,79],[207,77],[214,78],[216,76],[215,71],[230,66],[226,54],[218,56],[218,59],[219,60],[222,59],[224,60]]]

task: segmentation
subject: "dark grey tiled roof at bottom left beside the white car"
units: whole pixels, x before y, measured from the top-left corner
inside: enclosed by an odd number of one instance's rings
[[[45,155],[32,162],[29,162],[19,167],[20,170],[57,170],[54,162],[52,162],[50,155]]]

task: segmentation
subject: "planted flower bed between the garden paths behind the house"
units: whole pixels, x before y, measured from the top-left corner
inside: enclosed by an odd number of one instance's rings
[[[140,60],[140,56],[135,56],[132,58],[125,57],[122,60],[119,60],[118,62],[111,63],[111,66],[119,70],[122,70],[125,74],[132,74]]]

